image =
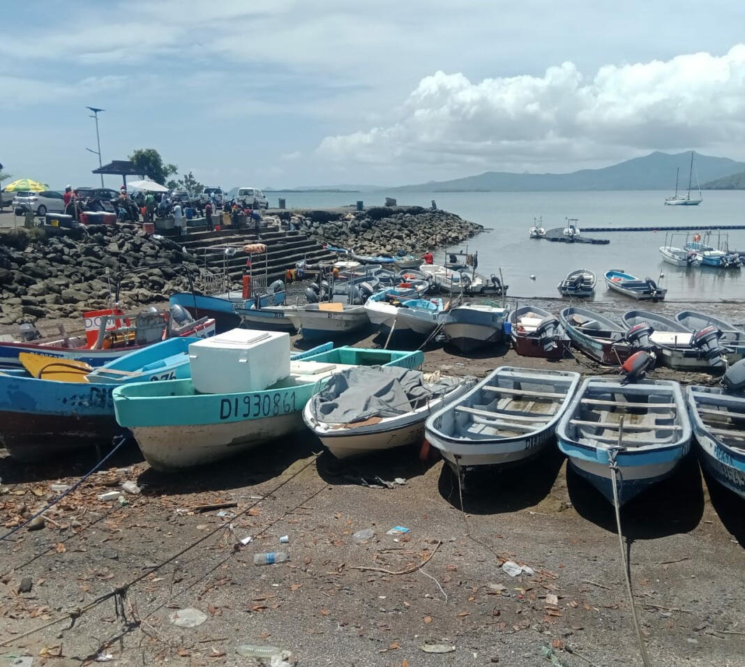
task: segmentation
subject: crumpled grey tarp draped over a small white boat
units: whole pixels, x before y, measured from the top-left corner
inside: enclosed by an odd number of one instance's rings
[[[347,424],[369,417],[392,417],[413,410],[432,385],[420,370],[360,366],[336,373],[311,398],[311,414],[319,422]]]

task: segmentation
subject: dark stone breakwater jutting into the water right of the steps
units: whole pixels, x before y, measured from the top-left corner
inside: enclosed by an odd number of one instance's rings
[[[424,253],[484,231],[483,225],[454,213],[422,206],[379,206],[359,212],[310,211],[294,215],[290,221],[320,243],[354,248],[361,255],[395,254],[399,249]]]

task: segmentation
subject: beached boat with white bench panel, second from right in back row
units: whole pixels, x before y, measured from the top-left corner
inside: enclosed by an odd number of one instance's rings
[[[621,315],[621,323],[627,330],[646,325],[648,347],[659,361],[674,370],[698,370],[712,372],[723,370],[727,363],[728,350],[720,345],[721,332],[715,326],[707,326],[694,333],[670,317],[645,310],[630,310]],[[647,347],[641,341],[641,347]],[[731,354],[731,353],[730,353]]]

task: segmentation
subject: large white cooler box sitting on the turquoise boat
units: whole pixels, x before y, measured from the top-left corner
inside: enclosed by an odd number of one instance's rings
[[[232,329],[188,347],[199,393],[263,391],[290,375],[290,335]]]

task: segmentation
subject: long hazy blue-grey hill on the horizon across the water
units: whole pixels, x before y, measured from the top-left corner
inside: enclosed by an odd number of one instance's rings
[[[696,173],[701,183],[719,180],[745,171],[745,162],[727,157],[695,154]],[[691,153],[667,154],[659,151],[600,169],[582,169],[571,174],[511,174],[486,171],[478,176],[418,185],[387,188],[386,192],[560,192],[592,190],[669,190],[675,189],[676,168],[679,187],[688,188]]]

